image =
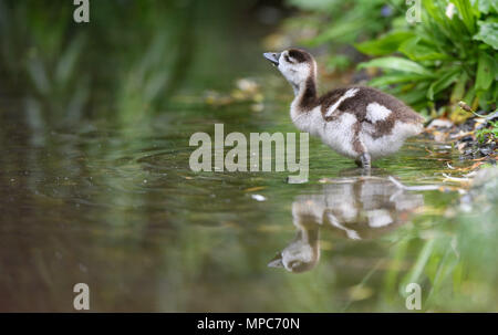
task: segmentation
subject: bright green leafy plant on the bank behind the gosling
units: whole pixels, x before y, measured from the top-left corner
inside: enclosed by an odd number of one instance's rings
[[[464,100],[490,111],[498,96],[497,2],[423,0],[422,22],[356,45],[363,53],[382,56],[360,69],[382,69],[383,76],[371,84],[418,108],[434,109],[438,102],[455,111],[456,102]],[[414,94],[421,90],[423,94]]]

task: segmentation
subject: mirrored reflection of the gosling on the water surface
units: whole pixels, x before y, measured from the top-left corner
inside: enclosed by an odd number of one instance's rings
[[[332,228],[351,240],[371,239],[392,231],[424,205],[421,193],[405,192],[388,179],[335,180],[323,192],[297,197],[292,222],[297,235],[268,266],[289,272],[313,269],[320,260],[319,230]]]

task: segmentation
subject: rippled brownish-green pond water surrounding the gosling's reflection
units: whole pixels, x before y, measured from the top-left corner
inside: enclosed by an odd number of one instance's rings
[[[189,169],[189,136],[215,123],[292,130],[287,105],[269,105],[44,134],[4,114],[0,310],[72,311],[80,282],[93,311],[406,311],[408,282],[424,310],[496,307],[489,211],[463,219],[457,191],[387,179],[444,185],[446,160],[458,164],[445,145],[414,139],[361,177],[312,139],[301,185],[283,172]]]

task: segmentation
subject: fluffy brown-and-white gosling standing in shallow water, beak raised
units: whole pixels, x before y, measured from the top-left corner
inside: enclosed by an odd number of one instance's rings
[[[424,118],[400,100],[363,86],[317,95],[317,62],[307,51],[289,49],[263,56],[294,90],[290,116],[302,132],[369,169],[373,159],[396,153],[407,137],[423,130]]]

